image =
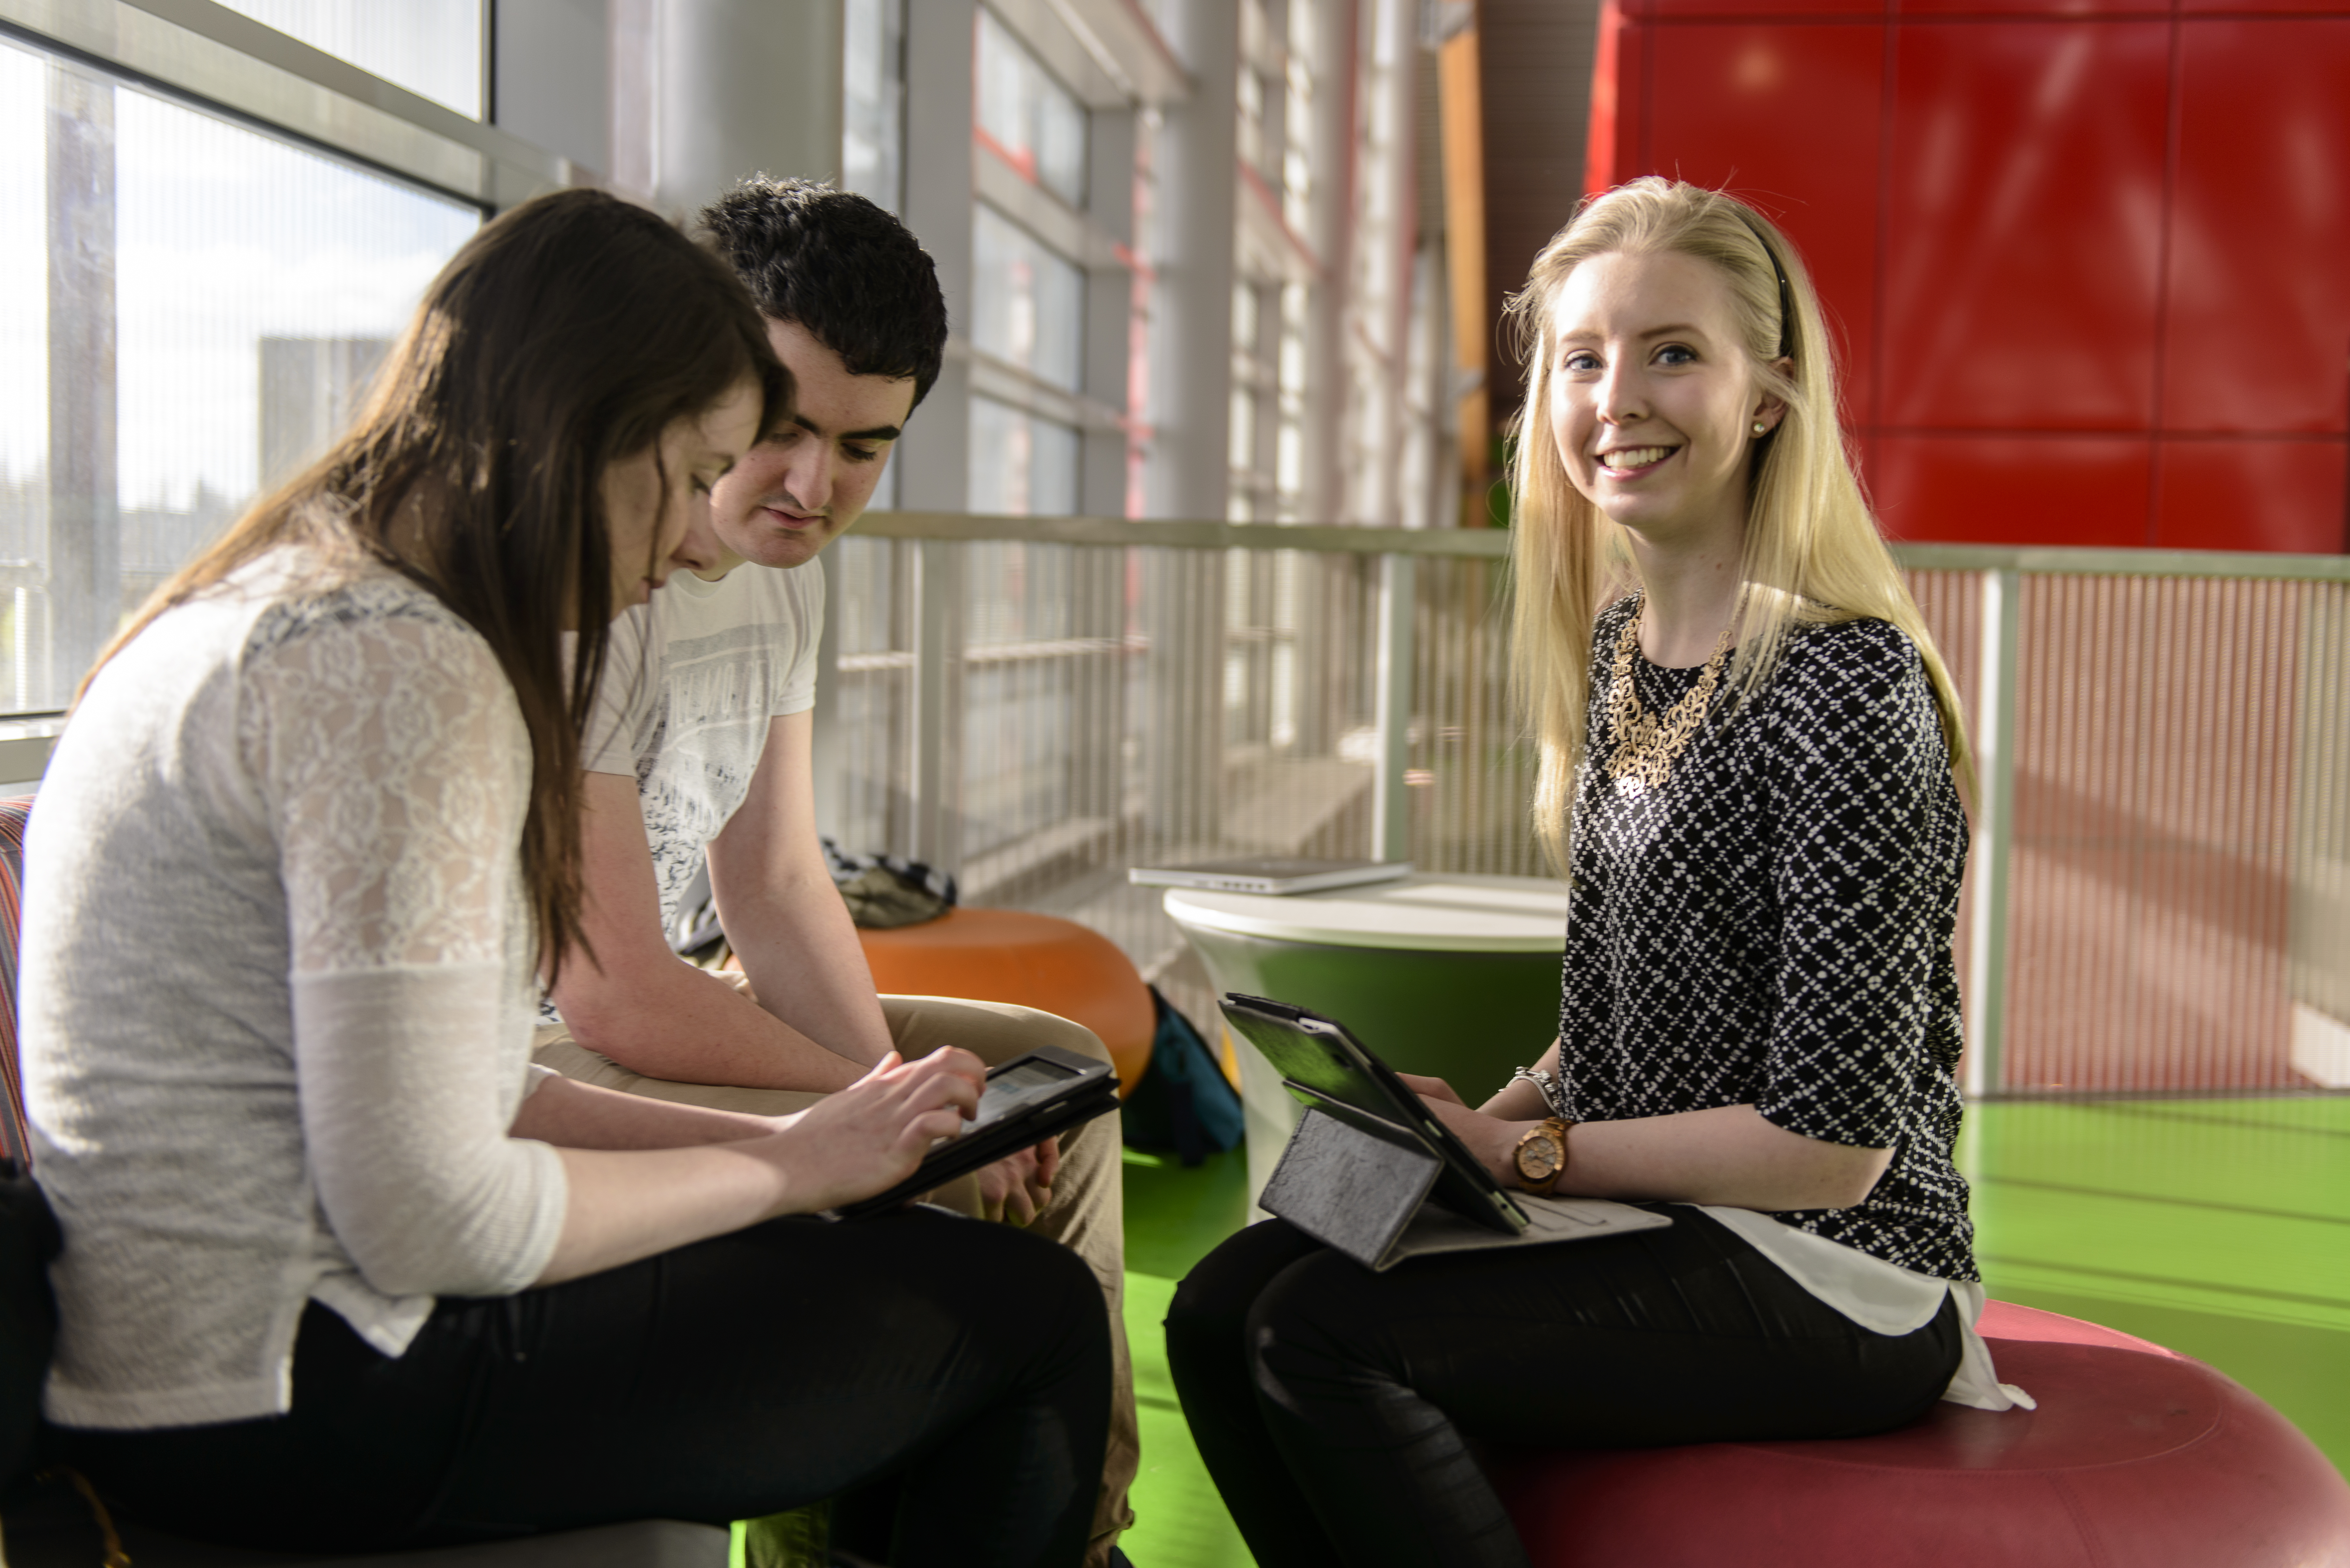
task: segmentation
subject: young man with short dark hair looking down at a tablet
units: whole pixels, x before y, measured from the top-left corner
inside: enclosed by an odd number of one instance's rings
[[[783,1114],[886,1051],[987,1063],[1043,1044],[1107,1060],[1090,1030],[989,1001],[879,997],[815,835],[811,708],[825,578],[811,567],[874,494],[938,378],[947,306],[921,244],[860,195],[745,181],[703,226],[799,383],[794,421],[710,496],[670,585],[613,625],[583,757],[585,924],[538,1037],[557,1072],[663,1100]],[[740,976],[679,961],[679,896],[707,865]],[[1130,1523],[1133,1368],[1119,1319],[1119,1119],[1001,1161],[933,1201],[1029,1225],[1083,1255],[1109,1300],[1119,1392],[1088,1563]],[[855,1302],[841,1302],[855,1309]]]

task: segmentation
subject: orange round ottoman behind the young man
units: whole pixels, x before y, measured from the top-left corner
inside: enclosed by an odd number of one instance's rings
[[[1015,1001],[1072,1018],[1109,1046],[1119,1093],[1152,1060],[1159,1018],[1133,959],[1093,926],[1027,910],[954,907],[893,931],[858,931],[886,997]]]

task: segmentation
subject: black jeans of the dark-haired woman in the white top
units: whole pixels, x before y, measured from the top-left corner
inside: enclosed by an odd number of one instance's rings
[[[848,1495],[895,1568],[1072,1566],[1109,1425],[1076,1253],[938,1211],[771,1220],[496,1300],[402,1356],[310,1305],[282,1418],[61,1432],[125,1514],[282,1549],[430,1547]]]

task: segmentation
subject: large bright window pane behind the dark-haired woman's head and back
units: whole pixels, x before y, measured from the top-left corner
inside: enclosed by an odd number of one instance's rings
[[[148,590],[317,454],[479,223],[0,42],[0,708],[59,708]]]

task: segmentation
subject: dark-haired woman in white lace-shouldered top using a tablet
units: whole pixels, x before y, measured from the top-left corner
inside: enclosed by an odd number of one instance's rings
[[[533,978],[595,961],[606,625],[787,402],[717,259],[529,202],[92,675],[28,844],[24,1041],[66,1227],[47,1410],[132,1516],[381,1549],[872,1488],[902,1568],[1079,1561],[1086,1267],[811,1218],[959,1126],[973,1060],[773,1121],[529,1067]]]

